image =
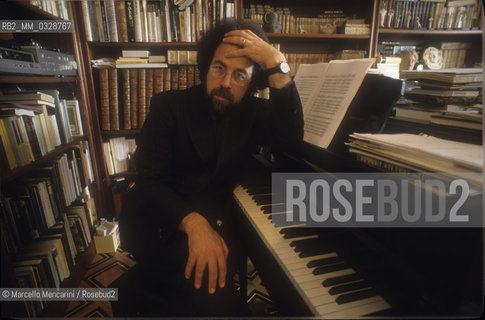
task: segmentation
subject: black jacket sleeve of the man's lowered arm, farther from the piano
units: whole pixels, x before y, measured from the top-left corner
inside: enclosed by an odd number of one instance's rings
[[[153,96],[150,113],[137,138],[135,164],[138,177],[135,198],[144,208],[140,213],[148,223],[164,228],[170,235],[176,232],[183,217],[192,210],[181,195],[171,188],[173,136],[176,119],[173,112],[175,99],[170,95]]]

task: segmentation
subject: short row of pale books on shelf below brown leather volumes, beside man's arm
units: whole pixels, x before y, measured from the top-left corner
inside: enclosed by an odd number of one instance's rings
[[[131,155],[135,153],[135,139],[125,137],[111,138],[103,142],[103,154],[108,174],[134,171],[131,166]]]

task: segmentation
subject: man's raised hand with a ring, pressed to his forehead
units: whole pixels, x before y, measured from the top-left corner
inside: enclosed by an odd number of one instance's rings
[[[226,57],[247,57],[265,69],[277,66],[286,61],[285,55],[267,43],[251,30],[233,30],[224,34],[223,43],[241,47],[226,54]],[[291,81],[287,74],[273,74],[268,78],[270,87],[282,88]]]

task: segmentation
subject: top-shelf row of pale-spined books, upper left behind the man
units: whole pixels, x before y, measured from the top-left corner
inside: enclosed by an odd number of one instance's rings
[[[196,42],[234,17],[234,1],[83,0],[82,10],[88,41]]]

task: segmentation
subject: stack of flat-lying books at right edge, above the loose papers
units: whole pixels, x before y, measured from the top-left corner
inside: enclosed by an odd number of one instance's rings
[[[396,118],[482,130],[482,70],[456,68],[401,71],[407,79]]]

